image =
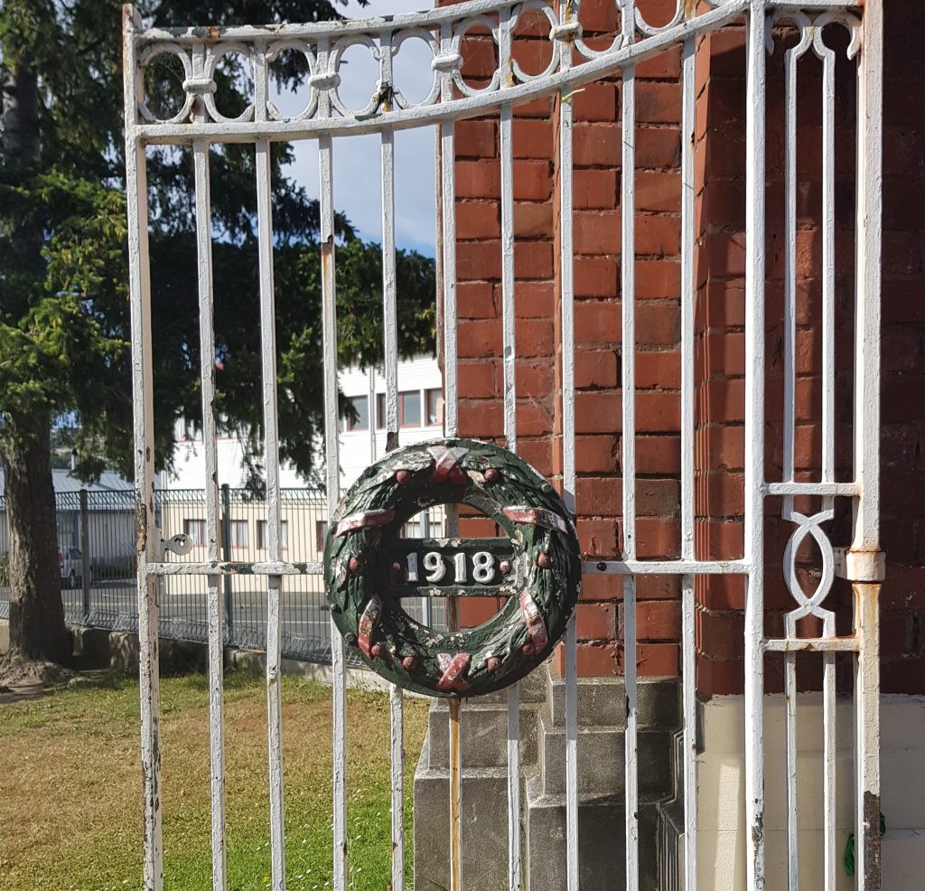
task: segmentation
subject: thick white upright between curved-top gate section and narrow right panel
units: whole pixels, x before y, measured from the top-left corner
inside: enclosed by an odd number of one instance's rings
[[[764,891],[765,0],[752,0],[746,53],[746,851],[748,891]]]

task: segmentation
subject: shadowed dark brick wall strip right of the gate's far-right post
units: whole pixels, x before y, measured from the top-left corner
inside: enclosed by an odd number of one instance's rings
[[[882,302],[882,688],[925,692],[925,70],[921,5],[886,6]]]

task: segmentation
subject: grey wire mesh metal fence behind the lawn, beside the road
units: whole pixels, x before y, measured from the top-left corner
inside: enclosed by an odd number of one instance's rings
[[[56,493],[61,598],[68,625],[138,631],[135,515],[133,493],[89,491]],[[221,489],[223,559],[253,563],[266,559],[266,504],[249,489]],[[206,545],[203,489],[163,489],[156,500],[164,537],[184,533],[192,550],[166,560],[203,561]],[[315,489],[280,492],[280,548],[293,562],[321,559],[327,528],[327,503]],[[432,508],[408,524],[409,538],[439,534],[442,508]],[[0,498],[0,561],[6,567],[6,504]],[[208,640],[207,582],[203,575],[165,575],[158,579],[161,637],[205,643]],[[266,589],[253,575],[222,578],[228,646],[266,647]],[[0,618],[9,615],[6,570],[0,573]],[[442,627],[442,601],[409,601],[409,614],[425,625]],[[290,575],[283,580],[280,613],[283,653],[291,659],[330,662],[331,635],[324,582],[320,575]]]

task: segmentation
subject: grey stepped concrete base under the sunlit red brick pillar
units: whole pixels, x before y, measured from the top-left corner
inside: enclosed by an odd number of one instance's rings
[[[564,683],[537,671],[521,687],[520,814],[524,887],[565,887]],[[508,887],[506,697],[464,702],[462,733],[462,888]],[[583,891],[623,888],[626,696],[620,678],[578,684],[578,834]],[[414,777],[414,888],[449,887],[448,709],[431,707],[425,749]],[[678,722],[674,680],[645,681],[638,696],[640,888],[657,891],[660,814],[672,791],[672,731]]]

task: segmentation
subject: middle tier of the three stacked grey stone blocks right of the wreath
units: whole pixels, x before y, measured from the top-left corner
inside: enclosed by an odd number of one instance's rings
[[[591,726],[578,729],[578,794],[623,795],[625,782],[624,729]],[[639,798],[655,801],[672,789],[672,734],[640,730],[636,736]],[[565,793],[565,728],[549,724],[547,712],[539,719],[539,777],[544,795]]]

